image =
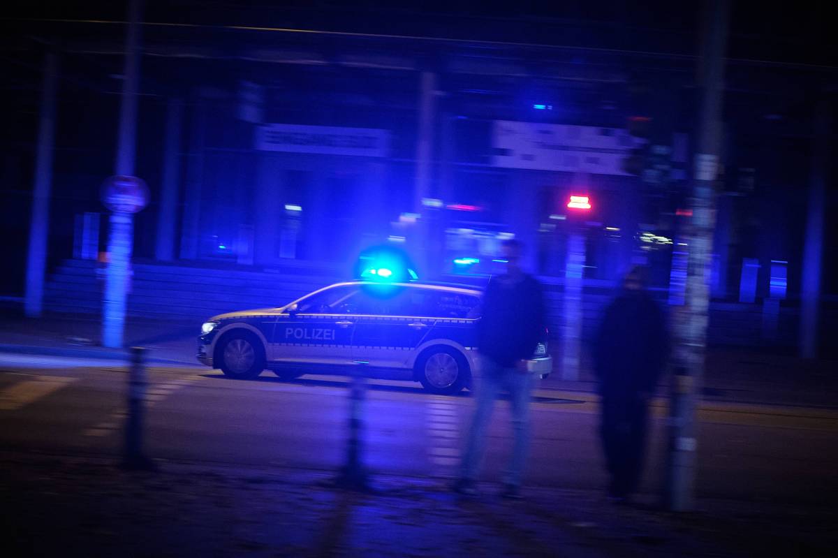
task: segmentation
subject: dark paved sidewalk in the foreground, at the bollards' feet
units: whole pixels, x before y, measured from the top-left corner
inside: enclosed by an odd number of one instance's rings
[[[0,454],[11,555],[727,556],[834,555],[835,510],[701,501],[699,511],[616,506],[598,493],[485,484],[458,499],[441,478],[158,462],[127,473],[102,457]]]

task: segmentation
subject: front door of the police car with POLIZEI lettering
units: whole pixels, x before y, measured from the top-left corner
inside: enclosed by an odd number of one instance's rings
[[[328,287],[282,313],[272,339],[274,361],[313,370],[349,364],[355,325],[349,310],[357,293],[354,285]]]

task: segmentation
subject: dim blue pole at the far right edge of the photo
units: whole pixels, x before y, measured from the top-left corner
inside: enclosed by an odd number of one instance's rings
[[[812,178],[803,249],[803,284],[800,292],[800,356],[804,359],[815,359],[818,356],[820,272],[824,253],[826,178],[830,164],[831,108],[830,99],[824,97],[815,111],[815,152],[812,156]]]

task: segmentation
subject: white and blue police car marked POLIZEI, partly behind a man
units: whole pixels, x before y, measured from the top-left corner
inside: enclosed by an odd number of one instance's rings
[[[478,374],[481,295],[464,285],[336,283],[283,307],[210,318],[201,327],[198,360],[231,378],[270,369],[287,380],[347,374],[364,363],[370,377],[415,380],[451,395]],[[533,374],[550,374],[546,335],[528,364]]]

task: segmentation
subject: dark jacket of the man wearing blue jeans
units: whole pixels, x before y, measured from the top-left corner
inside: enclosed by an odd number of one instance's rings
[[[504,367],[530,359],[539,341],[546,340],[546,309],[541,283],[535,277],[509,275],[489,281],[478,322],[480,352]]]

